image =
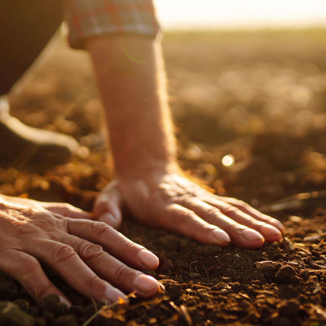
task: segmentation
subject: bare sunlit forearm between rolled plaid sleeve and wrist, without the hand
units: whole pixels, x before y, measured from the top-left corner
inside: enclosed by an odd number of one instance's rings
[[[107,114],[116,172],[173,161],[160,45],[144,37],[104,35],[89,38],[87,48]]]

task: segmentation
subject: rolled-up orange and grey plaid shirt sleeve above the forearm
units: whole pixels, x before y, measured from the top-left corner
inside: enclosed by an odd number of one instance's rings
[[[84,39],[106,33],[155,38],[159,31],[152,0],[67,0],[69,43],[83,49]]]

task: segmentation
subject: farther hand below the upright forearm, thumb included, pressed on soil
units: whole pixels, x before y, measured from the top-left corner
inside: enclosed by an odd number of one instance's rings
[[[241,200],[211,194],[175,165],[119,175],[97,197],[94,215],[119,227],[123,205],[140,221],[177,231],[201,243],[259,248],[280,241],[283,225]]]

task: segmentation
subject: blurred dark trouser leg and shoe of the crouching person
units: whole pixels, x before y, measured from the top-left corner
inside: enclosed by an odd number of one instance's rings
[[[0,4],[0,167],[60,164],[78,148],[70,136],[28,127],[9,114],[7,94],[33,64],[63,21],[61,0]]]

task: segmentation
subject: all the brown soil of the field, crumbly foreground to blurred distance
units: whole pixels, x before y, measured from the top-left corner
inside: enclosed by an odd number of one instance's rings
[[[56,296],[36,303],[0,272],[0,325],[326,325],[324,36],[176,33],[163,42],[181,166],[218,195],[280,219],[281,243],[203,245],[125,216],[120,231],[159,257],[147,273],[165,292],[130,298],[128,309],[101,309],[44,266],[73,303],[68,311]],[[0,192],[90,211],[112,164],[87,55],[60,44],[11,102],[24,123],[70,134],[84,147],[52,170],[33,171],[27,159],[0,169]],[[224,166],[225,155],[234,164]]]

